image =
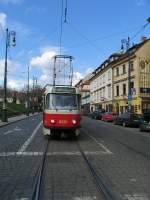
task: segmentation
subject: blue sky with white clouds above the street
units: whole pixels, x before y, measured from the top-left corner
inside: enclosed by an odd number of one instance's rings
[[[27,65],[41,84],[51,78],[51,57],[59,51],[62,0],[0,0],[0,85],[3,84],[5,29],[15,30],[17,46],[10,48],[8,85],[26,84]],[[64,0],[65,2],[65,0]],[[119,51],[121,39],[133,36],[150,17],[150,0],[68,0],[63,24],[63,54],[72,55],[75,81]],[[150,36],[147,26],[141,36]]]

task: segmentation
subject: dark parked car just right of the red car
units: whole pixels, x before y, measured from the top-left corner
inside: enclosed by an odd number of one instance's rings
[[[117,116],[114,119],[114,124],[117,125],[122,125],[124,127],[126,126],[134,126],[134,127],[139,127],[140,125],[140,116],[136,115],[134,113],[123,113]]]

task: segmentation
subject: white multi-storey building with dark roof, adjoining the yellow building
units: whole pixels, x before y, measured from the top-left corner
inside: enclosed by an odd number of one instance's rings
[[[102,63],[94,72],[90,80],[91,111],[105,109],[113,110],[113,77],[112,62],[118,59],[119,54],[113,54]]]

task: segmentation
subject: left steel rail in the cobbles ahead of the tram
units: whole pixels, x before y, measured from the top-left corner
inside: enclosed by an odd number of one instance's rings
[[[32,196],[30,198],[31,200],[40,200],[41,182],[42,182],[42,176],[43,176],[43,172],[44,172],[44,166],[45,166],[45,160],[46,160],[46,154],[47,154],[48,146],[49,146],[49,140],[47,140],[45,151],[44,151],[43,156],[42,156],[41,164],[40,164],[38,172],[37,172],[35,184],[34,184],[34,187],[33,187]]]

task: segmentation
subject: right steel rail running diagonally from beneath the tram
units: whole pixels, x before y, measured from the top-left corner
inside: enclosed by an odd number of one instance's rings
[[[122,198],[118,194],[116,194],[116,192],[114,192],[112,190],[109,183],[106,180],[104,180],[104,178],[96,172],[95,168],[93,167],[93,164],[87,158],[87,156],[84,153],[84,151],[82,150],[79,142],[77,142],[77,146],[78,146],[79,151],[80,151],[82,157],[84,158],[91,174],[93,175],[93,177],[96,181],[96,184],[98,186],[99,191],[103,192],[105,199],[107,199],[107,200],[121,200]]]

